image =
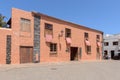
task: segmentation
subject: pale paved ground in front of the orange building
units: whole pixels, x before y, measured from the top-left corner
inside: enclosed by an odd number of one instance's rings
[[[0,65],[0,80],[120,80],[120,61]]]

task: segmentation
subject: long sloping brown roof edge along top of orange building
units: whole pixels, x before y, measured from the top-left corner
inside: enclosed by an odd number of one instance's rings
[[[48,17],[48,18],[51,18],[51,19],[54,19],[54,20],[57,20],[57,21],[65,22],[65,23],[68,23],[68,24],[72,24],[72,25],[75,25],[75,26],[78,26],[78,27],[82,27],[84,29],[89,29],[89,30],[96,31],[96,32],[99,32],[99,33],[103,34],[102,31],[99,31],[99,30],[96,30],[96,29],[92,29],[92,28],[88,28],[86,26],[82,26],[82,25],[79,25],[79,24],[76,24],[76,23],[65,21],[65,20],[61,20],[61,19],[58,19],[58,18],[55,18],[55,17],[52,17],[52,16],[48,16],[46,14],[39,13],[39,12],[32,12],[32,14],[33,15],[37,15],[37,16]]]

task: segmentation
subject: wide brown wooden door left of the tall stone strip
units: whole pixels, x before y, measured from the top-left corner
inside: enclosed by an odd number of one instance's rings
[[[20,47],[20,63],[33,62],[33,47]]]

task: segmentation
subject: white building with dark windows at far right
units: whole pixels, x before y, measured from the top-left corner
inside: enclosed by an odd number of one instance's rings
[[[120,56],[120,34],[105,35],[104,36],[104,56],[108,56],[110,59],[114,59],[116,56]]]

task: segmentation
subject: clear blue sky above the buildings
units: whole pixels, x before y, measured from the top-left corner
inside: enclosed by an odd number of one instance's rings
[[[7,19],[12,7],[41,12],[105,34],[120,33],[120,0],[0,0],[0,13]]]

